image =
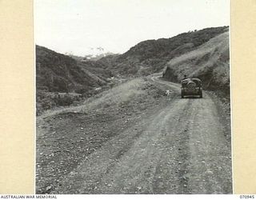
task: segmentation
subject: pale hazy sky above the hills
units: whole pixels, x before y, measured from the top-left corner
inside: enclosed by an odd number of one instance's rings
[[[147,39],[229,26],[229,0],[35,0],[35,42],[60,53],[123,53]]]

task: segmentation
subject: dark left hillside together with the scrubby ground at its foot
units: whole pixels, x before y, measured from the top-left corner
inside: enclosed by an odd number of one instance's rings
[[[79,96],[90,96],[96,88],[106,86],[110,77],[110,71],[100,63],[82,62],[36,46],[37,113],[54,106],[69,106]]]

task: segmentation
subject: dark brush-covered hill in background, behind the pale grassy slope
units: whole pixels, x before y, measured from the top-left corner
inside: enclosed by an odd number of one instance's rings
[[[159,72],[170,59],[197,49],[210,38],[228,30],[227,26],[195,30],[173,38],[147,40],[133,46],[125,54],[107,58],[106,69],[125,76],[140,76]],[[111,59],[112,58],[112,59]],[[98,62],[106,61],[106,58]]]

